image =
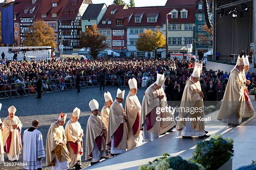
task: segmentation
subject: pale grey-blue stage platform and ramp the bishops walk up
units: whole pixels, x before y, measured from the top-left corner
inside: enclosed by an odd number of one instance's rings
[[[256,101],[253,101],[256,109]],[[230,128],[227,123],[216,120],[218,111],[211,113],[211,121],[205,122],[205,130],[209,134],[220,133],[224,138],[233,138],[234,140],[234,158],[233,170],[248,165],[251,160],[256,159],[256,118],[244,122],[244,125]],[[207,117],[205,116],[205,117]],[[146,143],[138,148],[128,150],[118,156],[103,160],[93,166],[84,168],[84,170],[138,170],[138,167],[147,164],[160,157],[163,153],[169,153],[172,156],[179,155],[182,158],[190,158],[196,144],[205,139],[183,139],[177,136],[177,131],[163,135],[161,138]]]

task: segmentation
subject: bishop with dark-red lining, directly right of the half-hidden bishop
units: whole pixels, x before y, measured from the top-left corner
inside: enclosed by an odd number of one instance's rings
[[[124,153],[128,148],[128,129],[126,125],[127,115],[123,109],[125,90],[117,90],[115,101],[110,107],[108,120],[107,149],[110,148],[111,155]]]

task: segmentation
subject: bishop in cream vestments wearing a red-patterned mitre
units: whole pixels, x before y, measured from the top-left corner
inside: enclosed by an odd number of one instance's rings
[[[67,137],[63,125],[67,114],[63,112],[59,119],[51,124],[46,138],[46,165],[51,166],[52,170],[68,170],[71,159],[67,149]]]

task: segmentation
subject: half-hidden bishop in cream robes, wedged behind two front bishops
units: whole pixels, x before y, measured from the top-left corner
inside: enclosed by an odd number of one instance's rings
[[[108,117],[109,117],[110,107],[113,104],[113,99],[110,92],[107,92],[107,93],[105,92],[104,98],[105,98],[105,105],[102,107],[102,110],[100,112],[100,117],[102,118],[102,121],[106,129],[108,130]]]

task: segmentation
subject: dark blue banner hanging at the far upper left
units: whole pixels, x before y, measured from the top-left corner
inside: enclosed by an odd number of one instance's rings
[[[1,10],[2,44],[14,44],[13,5]]]

